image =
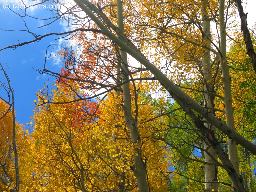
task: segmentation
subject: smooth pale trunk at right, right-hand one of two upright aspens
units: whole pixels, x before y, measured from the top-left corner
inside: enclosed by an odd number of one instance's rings
[[[229,76],[229,67],[226,60],[227,45],[226,45],[226,24],[225,24],[225,0],[220,0],[220,52],[221,52],[221,69],[222,69],[222,81],[224,90],[224,104],[226,112],[227,125],[232,130],[235,130],[234,123],[234,109],[232,107],[232,95],[231,95],[231,78]],[[234,166],[234,169],[239,176],[239,164],[236,149],[236,142],[228,138],[228,153],[229,159]],[[234,187],[234,183],[233,183]]]

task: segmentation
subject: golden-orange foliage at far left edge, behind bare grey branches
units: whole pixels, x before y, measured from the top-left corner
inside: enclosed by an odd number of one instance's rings
[[[0,111],[1,114],[8,109],[9,106],[3,100],[0,100]],[[32,150],[30,148],[31,138],[27,130],[23,128],[22,124],[15,122],[15,138],[16,138],[16,146],[18,151],[19,158],[19,170],[20,170],[20,191],[28,191],[28,187],[31,185],[31,180],[33,178],[31,163],[33,157]],[[8,114],[0,120],[0,145],[1,145],[1,163],[4,164],[5,156],[10,150],[10,146],[12,146],[12,112],[9,111]],[[14,169],[14,153],[7,156],[6,162],[6,170],[7,174],[11,176],[13,179],[12,185],[10,188],[5,186],[2,182],[0,183],[0,187],[6,191],[10,191],[16,184],[16,173]],[[0,167],[0,172],[3,173],[3,168]],[[30,190],[29,190],[30,191]]]

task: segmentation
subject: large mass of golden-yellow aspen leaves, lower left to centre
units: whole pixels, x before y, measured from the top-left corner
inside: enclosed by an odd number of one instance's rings
[[[153,191],[167,190],[170,175],[165,175],[169,168],[169,152],[163,148],[162,141],[151,138],[156,132],[164,132],[162,118],[144,123],[156,116],[155,107],[146,102],[144,96],[138,97],[138,129],[141,142],[132,143],[130,133],[125,127],[122,97],[109,93],[107,99],[99,102],[97,119],[77,116],[82,105],[75,100],[71,90],[52,90],[51,102],[37,102],[34,132],[31,133],[30,149],[32,182],[28,186],[35,191],[76,191],[114,190],[120,182],[125,187],[134,188],[136,179],[131,170],[135,148],[141,148],[140,155],[147,162],[147,176]],[[58,91],[60,90],[60,91]],[[65,92],[65,94],[62,94]],[[46,102],[46,101],[44,101]],[[145,104],[146,103],[146,104]],[[164,103],[164,101],[163,101]],[[133,104],[134,106],[134,100]],[[134,110],[134,109],[133,109]],[[117,138],[113,139],[113,134]],[[118,152],[118,153],[117,153]],[[113,160],[114,159],[114,160]],[[115,174],[123,173],[121,180]],[[132,191],[136,191],[136,187]]]

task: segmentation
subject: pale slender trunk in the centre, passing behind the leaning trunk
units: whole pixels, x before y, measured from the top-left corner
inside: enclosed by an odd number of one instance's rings
[[[118,19],[118,28],[124,33],[124,20],[123,20],[123,6],[122,0],[117,0],[117,19]],[[122,81],[126,82],[129,79],[128,74],[128,62],[127,62],[127,53],[123,50],[120,51],[121,62],[122,62]],[[136,90],[134,90],[136,91]],[[123,110],[124,110],[124,121],[126,126],[129,129],[131,141],[134,145],[140,147],[141,140],[140,134],[137,127],[137,121],[132,117],[131,110],[131,93],[129,83],[123,85]],[[135,148],[135,153],[133,155],[135,169],[133,173],[137,180],[138,191],[139,192],[148,192],[148,183],[146,179],[146,164],[144,164],[141,157],[141,148]]]

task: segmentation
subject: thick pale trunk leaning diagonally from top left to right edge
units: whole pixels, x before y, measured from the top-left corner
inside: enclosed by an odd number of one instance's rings
[[[182,91],[177,85],[175,85],[167,76],[165,76],[155,65],[150,63],[144,55],[138,50],[138,48],[132,43],[132,41],[121,32],[119,28],[117,28],[108,17],[100,11],[94,4],[89,2],[88,0],[73,0],[100,28],[100,32],[106,35],[112,42],[118,45],[123,51],[129,53],[134,59],[144,65],[148,70],[155,75],[157,81],[161,81],[164,87],[173,93],[178,98],[182,98],[182,100],[189,105],[189,107],[195,110],[197,113],[205,116],[211,124],[215,125],[217,129],[222,131],[228,137],[232,137],[238,144],[243,146],[245,149],[250,151],[253,155],[256,155],[256,145],[254,145],[249,140],[245,139],[242,135],[238,134],[236,131],[230,129],[226,124],[221,122],[217,117],[215,117],[212,113],[208,113],[205,108],[203,108],[199,103],[197,103],[194,99],[192,99],[187,93]],[[118,34],[119,38],[115,36],[112,31],[110,31],[93,13],[97,13],[102,17],[102,20],[106,22],[106,24],[113,29],[116,34]],[[196,44],[196,43],[195,43]],[[219,58],[220,53],[212,50],[214,54],[216,54]],[[177,99],[178,100],[178,99]],[[178,102],[178,101],[177,101]]]

